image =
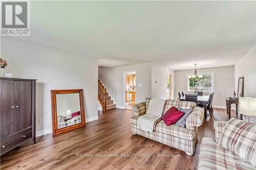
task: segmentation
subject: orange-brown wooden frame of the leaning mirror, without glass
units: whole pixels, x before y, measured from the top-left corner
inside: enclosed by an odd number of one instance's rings
[[[72,94],[72,93],[79,93],[81,123],[58,129],[56,95],[57,94]],[[53,136],[86,126],[86,121],[85,121],[86,114],[84,112],[83,90],[82,89],[51,90],[51,98],[52,98],[51,101],[52,101],[52,135]]]

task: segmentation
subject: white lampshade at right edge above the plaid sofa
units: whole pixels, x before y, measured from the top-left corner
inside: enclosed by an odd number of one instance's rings
[[[239,98],[239,112],[242,115],[256,116],[256,98],[240,97]]]

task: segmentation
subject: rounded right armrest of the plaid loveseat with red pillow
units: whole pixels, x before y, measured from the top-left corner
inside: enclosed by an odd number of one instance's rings
[[[195,107],[192,112],[187,116],[186,128],[195,131],[195,127],[199,127],[203,124],[204,113],[200,107]]]

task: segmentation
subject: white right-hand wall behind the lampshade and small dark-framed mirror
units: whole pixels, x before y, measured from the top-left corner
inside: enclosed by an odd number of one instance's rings
[[[256,98],[256,44],[234,65],[234,87],[238,90],[238,79],[244,77],[244,96]],[[245,118],[256,123],[256,117]]]

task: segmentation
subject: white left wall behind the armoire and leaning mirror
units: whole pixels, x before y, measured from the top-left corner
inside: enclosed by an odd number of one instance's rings
[[[12,73],[14,78],[37,79],[37,135],[51,132],[50,90],[83,89],[87,122],[98,118],[96,58],[9,37],[1,37],[1,57],[8,62],[3,72]],[[39,124],[39,119],[44,119],[44,124]]]

